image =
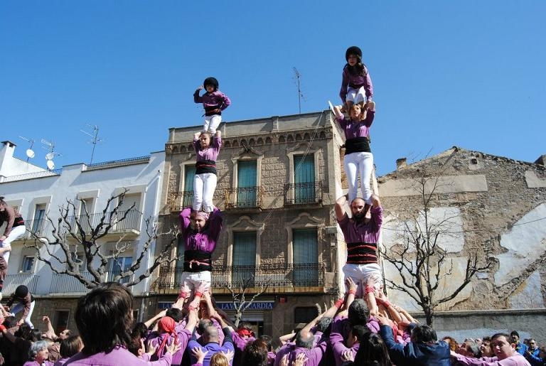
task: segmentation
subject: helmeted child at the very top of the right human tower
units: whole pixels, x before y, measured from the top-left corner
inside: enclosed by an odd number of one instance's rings
[[[373,97],[373,85],[368,73],[368,68],[362,63],[362,50],[353,45],[347,48],[345,53],[347,63],[343,68],[341,90],[339,96],[341,102],[346,105],[346,110],[358,103],[364,107],[365,102],[370,102]]]

